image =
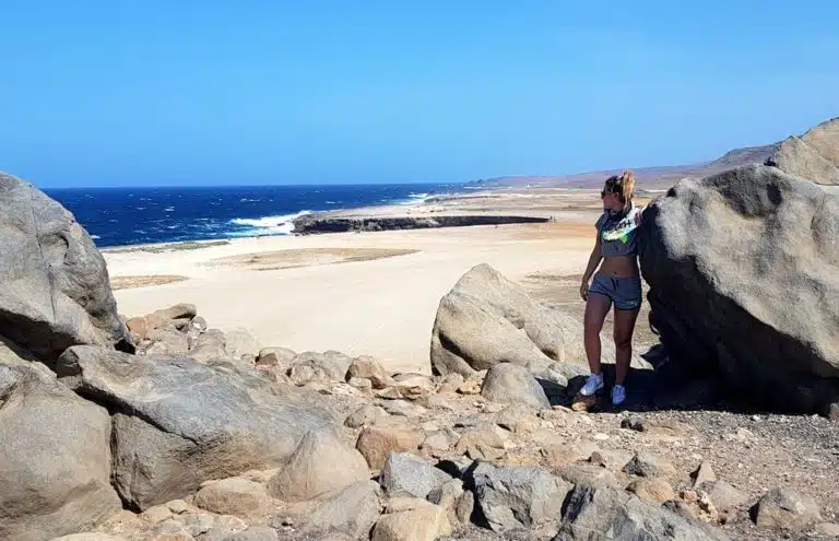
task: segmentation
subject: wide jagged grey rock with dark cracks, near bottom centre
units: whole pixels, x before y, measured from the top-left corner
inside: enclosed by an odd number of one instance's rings
[[[540,468],[480,463],[472,473],[475,505],[496,532],[539,528],[559,517],[571,484]]]

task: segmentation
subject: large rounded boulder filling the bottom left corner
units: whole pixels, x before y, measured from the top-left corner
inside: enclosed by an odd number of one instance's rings
[[[0,364],[0,539],[51,539],[116,514],[110,431],[104,408],[46,368]]]

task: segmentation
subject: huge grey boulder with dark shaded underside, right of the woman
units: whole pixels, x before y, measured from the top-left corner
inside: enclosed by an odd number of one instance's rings
[[[641,227],[671,360],[769,408],[839,397],[839,197],[776,167],[683,180]]]

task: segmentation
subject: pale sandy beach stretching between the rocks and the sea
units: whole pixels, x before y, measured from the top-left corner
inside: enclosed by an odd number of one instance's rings
[[[469,204],[488,212],[505,207],[519,214],[550,213],[555,222],[238,238],[111,249],[105,258],[126,316],[192,303],[213,326],[246,329],[264,346],[369,354],[393,371],[428,372],[437,305],[475,264],[489,263],[542,290],[545,281],[540,277],[555,281],[584,269],[596,196],[543,197],[537,205],[532,199],[470,196],[453,205],[449,201],[446,210]],[[433,210],[439,210],[439,203],[401,211]]]

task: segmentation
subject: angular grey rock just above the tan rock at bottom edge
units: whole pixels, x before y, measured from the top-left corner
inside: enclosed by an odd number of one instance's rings
[[[380,483],[388,497],[425,498],[451,481],[451,475],[410,452],[391,452],[381,468]]]

